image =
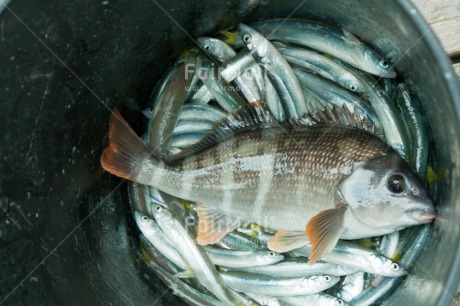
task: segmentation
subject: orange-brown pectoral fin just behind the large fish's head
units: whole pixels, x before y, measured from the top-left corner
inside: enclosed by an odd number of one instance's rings
[[[307,236],[312,245],[308,264],[313,265],[332,251],[345,230],[343,220],[346,207],[326,209],[319,212],[307,224]]]

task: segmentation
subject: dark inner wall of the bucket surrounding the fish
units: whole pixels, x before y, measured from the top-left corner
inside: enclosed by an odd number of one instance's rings
[[[21,21],[9,10],[0,15],[0,214],[19,227],[2,229],[0,273],[9,282],[1,296],[25,282],[7,305],[182,303],[142,271],[126,183],[100,167],[110,110],[142,132],[150,92],[191,38],[287,16],[346,28],[395,63],[417,93],[436,150],[439,217],[385,304],[448,304],[459,268],[460,94],[408,1],[21,0],[10,8]]]

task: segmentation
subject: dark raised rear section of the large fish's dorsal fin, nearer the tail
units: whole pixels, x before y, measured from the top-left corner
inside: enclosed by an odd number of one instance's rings
[[[262,101],[249,103],[218,122],[212,131],[206,134],[196,144],[185,148],[179,153],[166,156],[164,161],[173,163],[177,160],[181,160],[187,156],[201,152],[236,133],[277,125],[270,110]]]

